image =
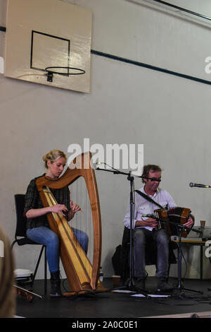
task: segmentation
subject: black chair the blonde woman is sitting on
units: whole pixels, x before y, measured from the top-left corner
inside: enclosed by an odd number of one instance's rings
[[[34,284],[34,279],[37,274],[37,269],[39,267],[39,262],[44,251],[44,294],[47,292],[47,260],[46,260],[46,246],[32,241],[26,235],[26,218],[23,215],[24,206],[25,206],[25,195],[24,194],[15,194],[15,211],[16,211],[16,230],[15,230],[15,240],[11,244],[13,246],[15,243],[18,243],[19,246],[24,246],[25,244],[36,244],[41,245],[41,251],[39,253],[39,258],[32,276],[31,285]]]

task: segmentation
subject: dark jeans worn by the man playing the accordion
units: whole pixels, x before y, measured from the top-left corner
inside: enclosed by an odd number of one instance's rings
[[[168,277],[169,267],[169,237],[165,230],[146,230],[136,228],[134,230],[134,277],[144,278],[145,271],[145,247],[146,241],[157,242],[158,260],[156,275],[158,278]]]

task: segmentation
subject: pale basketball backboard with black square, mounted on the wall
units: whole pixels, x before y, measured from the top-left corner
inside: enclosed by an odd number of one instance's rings
[[[89,93],[90,54],[89,9],[59,0],[8,0],[5,76]],[[52,80],[46,67],[56,67]]]

